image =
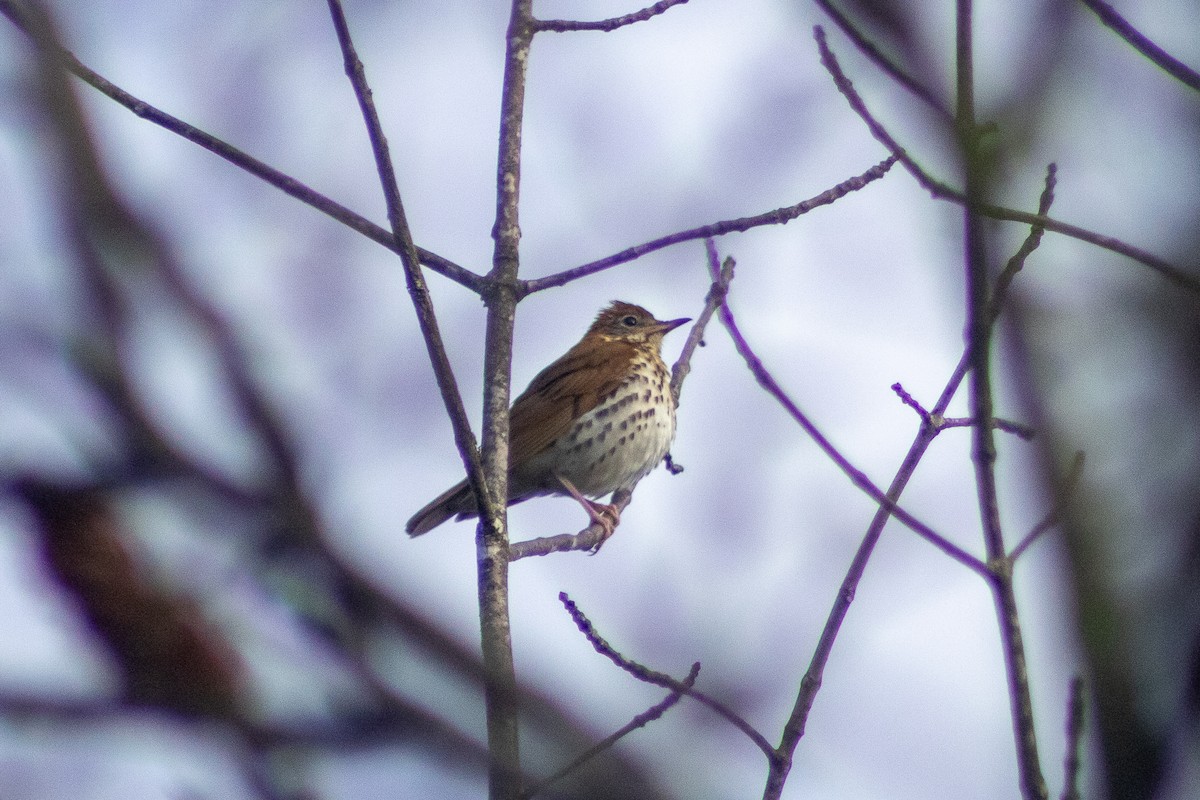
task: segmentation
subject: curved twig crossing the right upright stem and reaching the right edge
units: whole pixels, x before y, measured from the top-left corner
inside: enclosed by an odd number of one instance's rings
[[[866,127],[870,130],[871,136],[875,137],[884,148],[887,148],[893,156],[908,170],[908,173],[917,180],[920,186],[930,193],[935,199],[949,200],[952,203],[958,203],[960,205],[966,205],[967,197],[964,192],[943,184],[934,179],[929,173],[924,170],[912,156],[900,146],[899,143],[892,137],[890,133],[875,119],[875,116],[866,108],[863,98],[854,90],[854,85],[850,82],[846,74],[841,71],[841,66],[838,64],[836,56],[829,49],[826,43],[824,30],[817,25],[815,29],[815,36],[817,40],[817,47],[821,50],[821,62],[824,65],[826,70],[833,77],[838,90],[846,97],[850,107],[863,119]],[[1070,236],[1073,239],[1079,239],[1080,241],[1086,241],[1097,247],[1112,251],[1114,253],[1120,253],[1127,258],[1130,258],[1150,269],[1154,270],[1166,279],[1172,283],[1187,289],[1188,291],[1200,294],[1200,279],[1188,272],[1181,270],[1174,264],[1152,255],[1144,249],[1134,247],[1133,245],[1127,245],[1126,242],[1116,239],[1115,236],[1105,236],[1103,234],[1093,233],[1079,225],[1073,225],[1066,222],[1060,222],[1045,215],[1028,213],[1025,211],[1018,211],[1015,209],[1008,209],[1000,205],[992,205],[990,203],[983,203],[982,200],[974,206],[974,211],[985,217],[992,219],[1003,219],[1007,222],[1022,222],[1028,225],[1038,225],[1045,230],[1052,230],[1055,233],[1062,234],[1064,236]]]

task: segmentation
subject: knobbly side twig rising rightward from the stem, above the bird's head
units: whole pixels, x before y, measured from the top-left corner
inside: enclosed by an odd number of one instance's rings
[[[884,158],[862,175],[856,175],[854,178],[845,180],[833,188],[826,190],[821,194],[817,194],[808,200],[802,200],[796,205],[775,209],[774,211],[767,211],[752,217],[725,219],[722,222],[714,222],[712,224],[691,228],[689,230],[680,230],[667,236],[660,236],[659,239],[650,240],[642,245],[635,245],[634,247],[623,249],[619,253],[613,253],[612,255],[601,258],[596,261],[589,261],[570,270],[547,275],[542,278],[524,281],[521,293],[522,295],[528,295],[534,291],[541,291],[542,289],[550,289],[551,287],[560,287],[577,278],[619,266],[628,261],[638,259],[647,253],[653,253],[654,251],[662,249],[664,247],[671,247],[672,245],[679,245],[685,241],[713,239],[715,236],[724,236],[725,234],[743,233],[750,230],[751,228],[758,228],[762,225],[787,224],[800,215],[808,213],[812,209],[822,205],[829,205],[834,200],[838,200],[851,192],[857,192],[871,181],[883,178],[895,162],[896,158],[894,156]]]

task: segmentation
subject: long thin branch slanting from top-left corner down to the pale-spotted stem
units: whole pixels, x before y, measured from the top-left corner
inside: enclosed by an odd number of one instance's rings
[[[36,41],[36,37],[32,36],[30,29],[29,12],[22,7],[22,4],[16,0],[0,0],[0,13],[6,16],[13,25]],[[70,50],[59,44],[55,44],[55,47],[58,58],[62,61],[64,68],[101,94],[130,109],[137,116],[154,122],[172,133],[176,133],[193,144],[198,144],[209,152],[212,152],[221,158],[224,158],[233,166],[264,180],[286,194],[289,194],[301,203],[317,209],[334,219],[337,219],[342,224],[353,228],[367,239],[371,239],[372,241],[376,241],[394,252],[400,252],[400,245],[397,243],[395,236],[388,230],[325,197],[324,194],[320,194],[316,190],[310,188],[290,175],[287,175],[254,158],[253,156],[242,152],[222,139],[218,139],[211,133],[206,133],[193,125],[188,125],[179,118],[172,116],[170,114],[155,108],[150,103],[134,97],[130,92],[110,83],[97,72],[94,72],[89,67],[84,66],[84,64],[79,61],[79,59],[77,59]],[[438,275],[461,283],[462,285],[475,291],[480,290],[482,278],[470,270],[458,266],[454,261],[442,258],[437,253],[426,249],[418,249],[418,253],[421,263]]]

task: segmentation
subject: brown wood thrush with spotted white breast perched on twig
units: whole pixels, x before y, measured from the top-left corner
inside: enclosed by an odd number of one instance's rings
[[[593,503],[658,467],[674,439],[671,373],[662,337],[689,319],[661,321],[616,301],[578,344],[542,369],[509,413],[509,505],[547,494],[575,498],[611,536],[620,517]],[[413,515],[412,536],[450,517],[478,516],[467,481]]]

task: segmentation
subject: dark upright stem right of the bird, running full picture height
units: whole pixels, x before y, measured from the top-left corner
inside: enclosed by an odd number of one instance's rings
[[[1016,740],[1016,762],[1021,794],[1026,800],[1044,800],[1046,784],[1038,758],[1037,734],[1033,727],[1033,702],[1030,696],[1025,644],[1021,639],[1016,594],[1013,589],[1013,564],[1004,552],[996,494],[995,409],[991,387],[991,331],[989,313],[988,253],[983,218],[979,207],[985,200],[988,166],[979,146],[976,125],[974,67],[972,42],[972,0],[956,2],[956,76],[958,102],[955,125],[962,152],[966,204],[964,206],[964,257],[967,271],[967,350],[971,375],[968,402],[972,428],[972,462],[974,463],[979,517],[983,525],[988,563],[992,570],[991,589],[996,602],[1004,669],[1008,675],[1009,705]]]

